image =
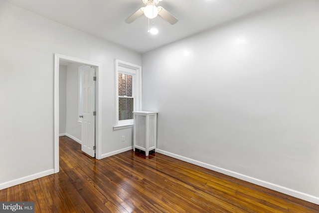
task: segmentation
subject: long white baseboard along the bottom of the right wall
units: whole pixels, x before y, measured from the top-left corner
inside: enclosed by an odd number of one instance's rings
[[[194,165],[197,165],[197,166],[200,166],[200,167],[203,167],[203,168],[215,171],[215,172],[222,173],[224,175],[238,178],[240,180],[247,181],[249,183],[253,183],[253,184],[256,184],[256,185],[259,185],[259,186],[262,186],[262,187],[265,187],[265,188],[268,188],[268,189],[271,189],[271,190],[274,190],[274,191],[277,191],[280,193],[284,193],[286,195],[290,195],[292,197],[299,198],[301,200],[308,201],[308,202],[319,205],[319,197],[316,197],[316,196],[308,195],[308,194],[303,193],[303,192],[299,192],[299,191],[289,189],[289,188],[286,188],[283,186],[279,186],[276,184],[272,184],[272,183],[269,183],[269,182],[266,182],[263,180],[252,178],[252,177],[249,177],[249,176],[237,173],[237,172],[233,172],[233,171],[226,170],[226,169],[223,169],[220,167],[216,167],[216,166],[213,166],[210,164],[206,164],[206,163],[203,163],[200,161],[196,161],[196,160],[193,160],[190,158],[186,158],[186,157],[183,157],[180,155],[176,155],[176,154],[173,154],[170,152],[166,152],[164,150],[157,149],[157,152],[160,154],[167,155],[169,157],[181,160],[181,161],[185,161],[185,162],[190,163],[190,164],[194,164]]]

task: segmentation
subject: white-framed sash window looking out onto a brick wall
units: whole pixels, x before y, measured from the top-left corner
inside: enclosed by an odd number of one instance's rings
[[[133,112],[142,106],[142,67],[115,59],[116,116],[114,129],[133,126]]]

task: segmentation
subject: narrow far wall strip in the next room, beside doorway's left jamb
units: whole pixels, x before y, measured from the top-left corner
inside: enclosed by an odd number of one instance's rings
[[[66,133],[66,71],[66,66],[59,66],[59,134]]]

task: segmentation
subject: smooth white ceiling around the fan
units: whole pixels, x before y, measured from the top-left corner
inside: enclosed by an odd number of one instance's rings
[[[130,24],[125,22],[144,6],[142,0],[4,1],[143,53],[290,0],[162,0],[158,6],[176,16],[178,22],[171,25],[157,16],[153,19],[157,35],[147,32],[144,15]]]

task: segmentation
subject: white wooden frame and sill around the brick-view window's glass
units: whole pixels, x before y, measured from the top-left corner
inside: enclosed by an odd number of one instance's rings
[[[130,128],[134,120],[119,120],[119,73],[132,75],[133,111],[142,109],[142,67],[126,61],[115,59],[115,126],[114,130]]]

